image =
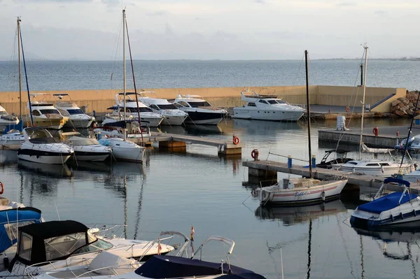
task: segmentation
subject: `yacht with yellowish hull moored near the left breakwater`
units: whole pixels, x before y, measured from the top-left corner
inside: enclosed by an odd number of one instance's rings
[[[59,113],[51,101],[36,101],[36,96],[48,96],[44,93],[31,93],[31,100],[28,102],[31,107],[32,119],[35,127],[44,127],[51,129],[62,129],[64,124],[69,121],[69,117],[64,117]],[[26,122],[31,123],[31,116],[27,115]]]

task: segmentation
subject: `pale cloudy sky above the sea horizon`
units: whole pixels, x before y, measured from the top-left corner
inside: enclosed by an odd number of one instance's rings
[[[419,0],[0,0],[0,59],[20,16],[29,58],[115,60],[123,8],[134,59],[420,57]]]

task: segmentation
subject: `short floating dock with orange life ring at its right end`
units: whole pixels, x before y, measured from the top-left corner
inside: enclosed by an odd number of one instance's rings
[[[129,138],[134,143],[141,142],[140,138]],[[159,148],[169,149],[185,149],[188,144],[199,144],[209,145],[217,148],[218,155],[242,155],[242,148],[245,147],[245,143],[239,142],[238,144],[233,143],[233,138],[218,139],[209,138],[204,136],[188,136],[179,134],[166,134],[151,132],[151,137],[146,140],[152,143],[159,143]]]

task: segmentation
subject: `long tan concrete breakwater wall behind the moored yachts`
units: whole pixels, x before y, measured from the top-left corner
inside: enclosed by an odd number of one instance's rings
[[[222,108],[232,108],[242,106],[241,91],[246,88],[254,90],[260,94],[274,94],[280,99],[289,103],[305,104],[306,87],[300,86],[272,86],[272,87],[207,87],[207,88],[156,88],[144,89],[145,91],[154,91],[158,98],[174,99],[178,94],[193,94],[203,96],[213,106]],[[128,90],[133,92],[134,90]],[[115,95],[121,90],[68,90],[68,91],[45,91],[33,93],[45,93],[49,96],[37,96],[41,101],[54,101],[52,94],[66,93],[71,99],[85,108],[87,113],[93,110],[97,113],[106,112],[106,108],[113,106]],[[388,113],[391,108],[391,102],[400,97],[404,97],[405,88],[388,87],[367,87],[365,103],[374,106],[372,111],[377,113]],[[311,85],[309,87],[310,102],[314,105],[322,106],[360,106],[362,101],[362,87],[346,86],[326,86]],[[27,92],[22,92],[22,114],[27,114]],[[20,99],[19,92],[0,92],[1,106],[6,108],[8,113],[19,113]]]

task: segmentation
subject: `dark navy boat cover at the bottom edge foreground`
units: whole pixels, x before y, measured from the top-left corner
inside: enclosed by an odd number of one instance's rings
[[[223,272],[228,273],[228,264],[223,264]],[[238,266],[230,265],[230,271],[235,275],[251,274],[257,277],[239,277],[239,278],[264,278],[258,277],[258,274],[247,269],[241,269]],[[212,276],[221,274],[221,263],[205,262],[200,259],[187,259],[175,256],[151,257],[147,262],[135,271],[139,276],[146,278],[186,278],[199,276]]]

